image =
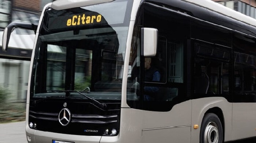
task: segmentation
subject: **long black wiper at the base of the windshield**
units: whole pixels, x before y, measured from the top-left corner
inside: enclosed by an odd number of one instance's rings
[[[57,98],[58,97],[69,98],[71,92],[77,92],[77,93],[83,95],[84,97],[86,97],[91,102],[93,102],[94,105],[96,105],[97,107],[99,107],[99,108],[101,108],[103,110],[107,108],[107,104],[101,103],[101,102],[99,102],[99,101],[97,101],[97,100],[95,100],[95,99],[93,99],[93,98],[91,98],[91,97],[89,97],[89,96],[79,92],[79,91],[76,91],[76,90],[50,90],[50,91],[52,91],[52,92],[65,92],[66,93],[66,96],[50,96],[50,97],[57,97]]]

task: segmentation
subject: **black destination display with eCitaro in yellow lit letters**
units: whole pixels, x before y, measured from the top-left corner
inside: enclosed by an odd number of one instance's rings
[[[96,12],[86,12],[68,16],[51,17],[48,21],[48,30],[74,28],[80,26],[92,26],[107,24],[104,17]]]

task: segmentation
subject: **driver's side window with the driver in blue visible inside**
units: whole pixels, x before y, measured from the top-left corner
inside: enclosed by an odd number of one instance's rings
[[[157,54],[145,57],[144,70],[144,101],[166,101],[168,94],[162,85],[166,83],[167,39],[159,36]]]

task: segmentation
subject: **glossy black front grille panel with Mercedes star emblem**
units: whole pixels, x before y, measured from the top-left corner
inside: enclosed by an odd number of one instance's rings
[[[56,99],[43,100],[29,106],[29,124],[35,123],[35,130],[72,135],[101,136],[106,129],[116,129],[119,132],[120,103],[106,103],[103,110],[89,102],[80,100]],[[64,103],[68,105],[63,109]],[[64,118],[65,116],[65,118]],[[60,117],[61,119],[59,119]],[[64,120],[66,119],[66,120]],[[60,120],[60,121],[59,121]],[[97,132],[86,132],[95,130]]]

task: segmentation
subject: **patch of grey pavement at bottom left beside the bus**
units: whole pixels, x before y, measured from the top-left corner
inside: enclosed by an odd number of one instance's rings
[[[0,143],[27,143],[25,121],[0,124]]]

